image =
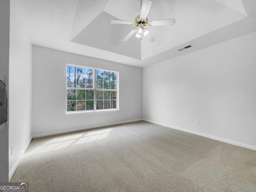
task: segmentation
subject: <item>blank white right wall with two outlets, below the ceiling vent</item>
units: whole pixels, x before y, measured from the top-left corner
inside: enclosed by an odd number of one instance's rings
[[[143,118],[256,150],[255,42],[253,32],[144,68]]]

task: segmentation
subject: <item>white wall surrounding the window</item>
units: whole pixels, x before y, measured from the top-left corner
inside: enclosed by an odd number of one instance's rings
[[[40,46],[33,46],[32,63],[34,137],[142,119],[142,68]],[[66,64],[118,71],[120,110],[65,114]],[[47,125],[48,120],[50,125]]]

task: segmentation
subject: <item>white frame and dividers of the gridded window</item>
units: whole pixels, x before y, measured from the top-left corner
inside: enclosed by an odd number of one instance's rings
[[[87,68],[93,70],[93,82],[92,82],[92,88],[71,88],[67,87],[67,66],[75,66],[75,67],[81,67],[81,68]],[[112,89],[97,89],[96,88],[96,70],[101,71],[107,71],[107,72],[114,72],[116,73],[116,90]],[[94,91],[94,109],[93,110],[76,110],[76,111],[68,111],[67,110],[67,90],[68,89],[74,89],[74,90],[93,90]],[[97,91],[115,91],[116,92],[116,108],[110,108],[110,109],[97,109]],[[77,97],[77,96],[76,96]],[[103,99],[104,100],[104,99]],[[76,98],[76,101],[77,98]],[[86,100],[85,100],[86,101]],[[77,104],[76,104],[77,105]],[[110,98],[110,106],[111,106],[111,98]],[[102,111],[117,111],[119,110],[119,72],[118,71],[111,71],[111,70],[105,70],[105,69],[99,69],[99,68],[92,68],[87,66],[78,66],[73,64],[66,64],[66,114],[74,114],[74,113],[87,113],[87,112],[102,112]]]

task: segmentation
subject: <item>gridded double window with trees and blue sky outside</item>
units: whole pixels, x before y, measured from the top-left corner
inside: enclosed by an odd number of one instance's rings
[[[67,65],[67,112],[118,108],[118,72]]]

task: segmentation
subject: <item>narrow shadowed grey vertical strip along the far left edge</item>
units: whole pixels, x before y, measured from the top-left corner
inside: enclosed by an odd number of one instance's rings
[[[0,80],[9,95],[10,2],[0,1]],[[9,120],[0,125],[0,182],[8,182],[8,127]]]

